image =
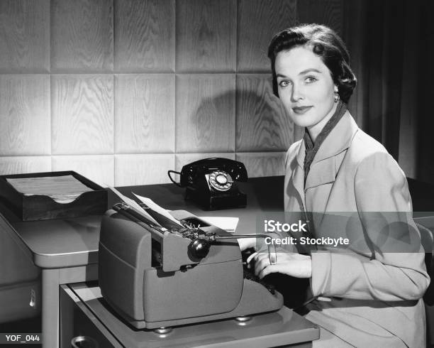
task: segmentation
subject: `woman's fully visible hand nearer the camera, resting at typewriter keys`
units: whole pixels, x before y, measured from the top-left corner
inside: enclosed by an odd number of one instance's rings
[[[277,252],[276,263],[271,264],[266,251],[255,252],[249,256],[247,263],[254,261],[255,274],[259,278],[264,278],[269,273],[284,273],[296,278],[311,278],[312,259],[311,256],[298,253]]]

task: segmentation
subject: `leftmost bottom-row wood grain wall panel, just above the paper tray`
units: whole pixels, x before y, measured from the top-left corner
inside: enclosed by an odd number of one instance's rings
[[[50,156],[0,157],[0,175],[50,171]]]

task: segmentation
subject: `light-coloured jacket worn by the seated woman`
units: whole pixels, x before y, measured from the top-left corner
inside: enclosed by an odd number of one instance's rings
[[[304,141],[286,154],[286,212],[314,212],[315,237],[350,239],[347,249],[311,252],[311,292],[331,300],[314,301],[306,317],[356,347],[425,347],[421,298],[430,279],[398,163],[349,112],[316,153],[306,185],[304,156]],[[347,213],[330,219],[333,212]]]

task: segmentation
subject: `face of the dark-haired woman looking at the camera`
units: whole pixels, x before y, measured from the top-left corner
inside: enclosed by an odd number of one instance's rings
[[[314,141],[337,105],[330,70],[304,46],[279,52],[274,68],[286,111],[296,125],[308,128]]]

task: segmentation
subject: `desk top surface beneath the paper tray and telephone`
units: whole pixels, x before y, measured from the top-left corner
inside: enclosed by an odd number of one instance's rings
[[[240,217],[238,233],[255,232],[257,212],[282,211],[283,177],[253,178],[239,186],[247,194],[247,207],[213,211],[202,210],[194,202],[184,200],[184,189],[173,184],[119,187],[118,190],[128,197],[134,192],[166,209],[187,210],[199,217]],[[109,207],[116,202],[118,197],[109,192]],[[36,266],[63,268],[97,262],[101,215],[22,222],[1,205],[0,213],[4,217],[1,225],[28,247]]]

